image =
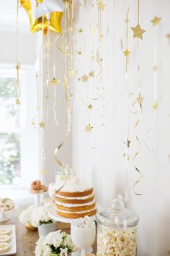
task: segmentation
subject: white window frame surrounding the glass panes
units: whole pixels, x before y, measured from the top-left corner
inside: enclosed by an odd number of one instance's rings
[[[0,64],[0,77],[16,78],[17,71],[14,66],[14,64]],[[30,186],[32,180],[39,179],[40,177],[40,131],[39,129],[33,129],[31,126],[31,120],[35,116],[36,106],[35,66],[23,65],[19,70],[19,80],[22,101],[19,129],[6,129],[3,131],[0,128],[0,133],[14,132],[20,134],[21,184],[0,185],[0,190],[25,189]]]

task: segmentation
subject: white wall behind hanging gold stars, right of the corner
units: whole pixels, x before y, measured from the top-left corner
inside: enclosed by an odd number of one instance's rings
[[[82,1],[83,2],[83,1]],[[130,5],[130,27],[137,24],[137,1],[128,1]],[[95,4],[95,3],[94,3]],[[140,216],[138,226],[138,255],[139,256],[166,256],[169,255],[169,61],[170,47],[166,34],[169,33],[169,1],[141,1],[141,27],[146,30],[143,41],[140,41],[140,66],[142,72],[142,90],[144,96],[143,114],[140,124],[136,129],[141,146],[135,140],[134,126],[138,120],[138,114],[130,114],[130,157],[139,150],[135,163],[143,173],[143,181],[136,189],[142,192],[142,196],[134,195],[133,184],[138,179],[138,173],[123,158],[125,145],[123,142],[127,136],[128,123],[128,90],[125,83],[125,17],[126,1],[105,0],[105,11],[102,14],[102,27],[104,41],[102,44],[103,80],[106,93],[104,101],[105,112],[102,127],[99,125],[99,116],[103,111],[101,100],[93,101],[94,108],[91,111],[91,125],[94,127],[90,134],[84,132],[84,124],[88,122],[88,113],[84,110],[86,88],[91,86],[92,97],[97,95],[96,84],[98,80],[89,84],[78,82],[77,78],[91,69],[91,48],[93,42],[89,35],[89,22],[97,22],[97,16],[91,18],[91,1],[86,1],[78,8],[76,14],[76,30],[79,27],[84,33],[76,33],[75,43],[75,68],[78,75],[75,80],[74,90],[75,108],[73,111],[73,168],[81,179],[93,182],[97,193],[97,201],[109,205],[110,200],[118,195],[125,198],[125,204],[133,208]],[[162,17],[161,25],[156,28],[158,51],[158,78],[157,100],[159,102],[156,116],[153,115],[153,64],[154,64],[154,30],[151,20],[154,15]],[[84,20],[86,22],[84,22]],[[97,24],[96,24],[97,27]],[[86,37],[85,37],[85,35]],[[95,28],[94,37],[97,35]],[[133,39],[130,30],[130,89],[138,94],[137,77],[137,40]],[[87,39],[86,39],[87,38]],[[92,41],[92,43],[91,43]],[[81,48],[81,56],[77,51]],[[89,54],[89,55],[88,55]],[[92,67],[97,68],[96,64]],[[101,87],[100,87],[101,88]],[[131,103],[133,98],[131,98]],[[134,108],[138,109],[138,108]],[[155,123],[153,124],[153,120]],[[151,129],[148,137],[148,145],[154,148],[154,153],[144,145],[146,129]],[[93,149],[95,148],[95,150]],[[95,152],[96,153],[95,153]]]

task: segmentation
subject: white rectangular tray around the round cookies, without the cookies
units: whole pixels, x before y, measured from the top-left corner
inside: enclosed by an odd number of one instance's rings
[[[16,244],[16,229],[15,225],[0,225],[0,229],[10,229],[12,233],[9,235],[11,240],[9,241],[10,249],[8,252],[0,253],[2,255],[14,255],[17,252],[17,244]]]

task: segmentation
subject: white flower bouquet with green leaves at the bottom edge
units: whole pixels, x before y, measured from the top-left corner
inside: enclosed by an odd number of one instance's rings
[[[45,237],[40,236],[36,243],[35,256],[67,256],[75,250],[71,235],[58,230]]]

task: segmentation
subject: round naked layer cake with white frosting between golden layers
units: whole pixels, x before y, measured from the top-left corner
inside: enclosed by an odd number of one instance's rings
[[[66,218],[92,216],[96,213],[94,189],[91,184],[71,179],[62,187],[63,181],[55,184],[55,207],[58,215]],[[58,189],[61,190],[58,191]]]

